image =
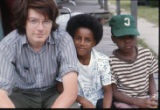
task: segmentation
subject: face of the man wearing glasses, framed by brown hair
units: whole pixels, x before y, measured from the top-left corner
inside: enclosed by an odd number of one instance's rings
[[[49,37],[52,28],[52,21],[38,13],[34,9],[28,10],[26,21],[26,34],[29,44],[43,45]]]

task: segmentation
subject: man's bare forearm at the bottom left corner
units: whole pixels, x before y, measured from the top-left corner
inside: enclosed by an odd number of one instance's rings
[[[7,91],[0,89],[0,108],[15,108],[7,94]]]

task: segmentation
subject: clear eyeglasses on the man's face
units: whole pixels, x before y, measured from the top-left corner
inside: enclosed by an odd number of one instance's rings
[[[52,25],[52,21],[49,19],[40,20],[40,19],[33,18],[33,17],[28,18],[28,22],[34,27],[37,27],[41,21],[44,27],[49,27]]]

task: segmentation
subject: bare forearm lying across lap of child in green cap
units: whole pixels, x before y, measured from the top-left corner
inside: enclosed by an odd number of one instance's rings
[[[120,91],[117,90],[115,84],[112,84],[112,90],[114,98],[119,102],[126,103],[129,105],[135,105],[138,106],[139,108],[154,108],[156,106],[156,104],[153,103],[152,100],[149,98],[145,99],[134,98],[121,93]]]

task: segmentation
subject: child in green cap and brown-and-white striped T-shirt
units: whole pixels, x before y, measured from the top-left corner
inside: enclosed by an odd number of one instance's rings
[[[156,93],[153,74],[158,72],[158,64],[149,49],[137,45],[140,34],[133,16],[113,16],[109,25],[112,41],[118,47],[110,56],[114,106],[155,108],[155,99],[149,96]]]

